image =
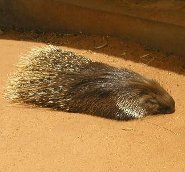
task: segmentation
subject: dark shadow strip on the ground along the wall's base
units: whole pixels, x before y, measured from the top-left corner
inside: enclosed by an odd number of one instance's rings
[[[11,31],[0,35],[0,39],[43,42],[57,46],[83,49],[185,75],[184,57],[174,54],[164,54],[151,47],[145,47],[129,42],[128,40],[121,40],[109,36]]]

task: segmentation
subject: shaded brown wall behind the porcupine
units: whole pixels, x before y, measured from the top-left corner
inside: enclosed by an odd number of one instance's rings
[[[0,0],[0,27],[113,35],[185,56],[185,2]]]

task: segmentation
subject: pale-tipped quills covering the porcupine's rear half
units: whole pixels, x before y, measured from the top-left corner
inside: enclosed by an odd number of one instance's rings
[[[72,75],[89,62],[51,45],[33,48],[20,58],[17,71],[10,76],[6,97],[12,102],[63,109],[65,92],[73,80],[66,80],[67,73]]]

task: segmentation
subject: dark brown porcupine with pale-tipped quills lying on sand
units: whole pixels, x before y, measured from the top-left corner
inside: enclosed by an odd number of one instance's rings
[[[51,45],[21,57],[9,78],[6,97],[122,120],[175,110],[173,98],[156,81]]]

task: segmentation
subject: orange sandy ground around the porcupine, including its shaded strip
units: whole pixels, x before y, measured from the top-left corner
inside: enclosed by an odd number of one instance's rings
[[[174,97],[176,111],[118,122],[10,104],[1,96],[0,171],[185,171],[183,58],[114,38],[6,33],[0,36],[1,95],[19,56],[47,42],[158,80]]]

